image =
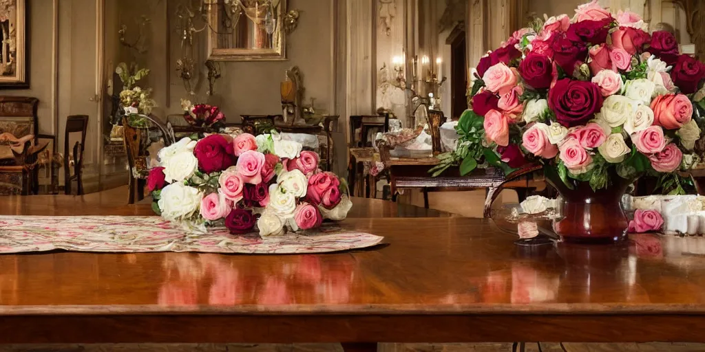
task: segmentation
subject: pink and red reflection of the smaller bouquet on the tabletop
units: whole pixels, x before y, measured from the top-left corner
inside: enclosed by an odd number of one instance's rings
[[[271,265],[229,257],[166,256],[158,303],[164,306],[339,304],[350,301],[355,261],[332,257],[283,256]]]

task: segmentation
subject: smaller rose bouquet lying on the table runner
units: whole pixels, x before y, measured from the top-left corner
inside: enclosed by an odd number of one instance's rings
[[[161,149],[159,161],[147,178],[152,208],[200,232],[309,230],[343,220],[352,206],[344,180],[319,170],[317,153],[276,132],[184,138]]]

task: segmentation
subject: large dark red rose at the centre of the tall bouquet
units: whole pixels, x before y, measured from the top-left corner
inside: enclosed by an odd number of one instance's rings
[[[600,87],[564,78],[548,91],[548,107],[565,127],[584,125],[602,108]]]

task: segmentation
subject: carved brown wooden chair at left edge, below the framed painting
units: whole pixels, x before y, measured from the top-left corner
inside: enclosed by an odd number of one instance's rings
[[[23,152],[13,158],[0,160],[0,194],[37,194],[39,192],[39,172],[37,157],[47,148],[49,142],[39,139],[55,137],[39,134],[37,107],[39,99],[29,96],[0,96],[0,133],[8,132],[21,138],[33,135],[27,141]]]

